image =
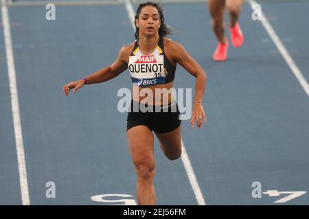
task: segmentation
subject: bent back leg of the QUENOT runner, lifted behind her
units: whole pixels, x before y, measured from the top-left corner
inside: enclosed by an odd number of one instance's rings
[[[160,147],[166,157],[170,160],[181,156],[181,126],[168,133],[155,133]]]

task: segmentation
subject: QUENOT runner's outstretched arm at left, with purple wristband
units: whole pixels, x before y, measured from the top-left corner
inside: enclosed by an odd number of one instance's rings
[[[117,60],[106,68],[102,68],[95,73],[86,77],[87,84],[102,83],[117,77],[128,68],[128,57],[130,56],[130,46],[124,46],[120,49]],[[73,89],[75,93],[78,89],[84,86],[84,80],[72,81],[63,86],[63,93],[67,96],[69,91]]]

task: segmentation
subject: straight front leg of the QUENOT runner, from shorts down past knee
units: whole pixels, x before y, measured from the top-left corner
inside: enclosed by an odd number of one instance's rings
[[[126,132],[130,154],[137,172],[137,201],[139,205],[155,205],[156,196],[154,137],[152,131],[138,125]]]

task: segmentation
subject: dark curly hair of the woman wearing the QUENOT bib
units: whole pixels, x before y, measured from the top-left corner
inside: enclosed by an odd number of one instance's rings
[[[139,18],[139,14],[141,14],[141,10],[146,6],[155,7],[155,8],[157,8],[157,10],[159,12],[160,21],[161,21],[161,27],[159,28],[159,36],[168,36],[168,35],[172,34],[172,28],[170,28],[170,26],[165,23],[164,15],[163,15],[163,8],[158,3],[148,1],[146,3],[139,4],[139,8],[137,8],[137,12],[136,12],[136,15],[135,15],[135,21]],[[135,29],[136,29],[135,39],[138,39],[139,38],[139,27],[136,26],[135,21],[134,21],[134,25],[135,25]]]

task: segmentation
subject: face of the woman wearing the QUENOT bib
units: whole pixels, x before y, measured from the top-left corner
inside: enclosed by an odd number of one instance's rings
[[[141,10],[141,14],[139,14],[139,18],[135,22],[136,26],[139,27],[139,34],[145,36],[157,34],[161,25],[157,8],[150,5]]]

